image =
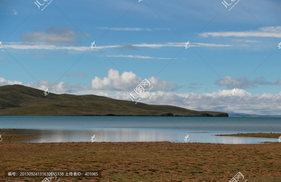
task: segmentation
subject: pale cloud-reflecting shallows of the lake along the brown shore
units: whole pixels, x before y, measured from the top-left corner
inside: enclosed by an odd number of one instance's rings
[[[96,134],[96,142],[182,142],[189,134],[189,142],[200,143],[225,143],[225,144],[247,144],[257,142],[277,142],[275,138],[252,138],[252,137],[224,137],[214,136],[216,134],[232,133],[180,133],[177,131],[159,131],[155,129],[121,129],[107,128],[87,133],[81,130],[38,130],[21,129],[5,131],[6,134],[22,134],[37,138],[14,140],[18,142],[91,142],[91,136]]]

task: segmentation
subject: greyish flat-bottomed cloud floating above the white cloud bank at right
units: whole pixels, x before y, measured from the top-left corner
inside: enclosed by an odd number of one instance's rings
[[[223,80],[222,79],[216,80],[215,84],[217,84],[219,86],[227,86],[228,88],[239,87],[239,88],[243,88],[243,89],[249,88],[249,87],[257,87],[258,85],[281,85],[281,80],[277,80],[276,82],[267,82],[263,77],[255,78],[254,80],[250,80],[248,78],[246,81],[245,80],[246,80],[246,77],[235,78],[235,77],[231,77],[231,76],[225,76],[223,78]],[[240,84],[242,84],[242,85],[239,86]]]

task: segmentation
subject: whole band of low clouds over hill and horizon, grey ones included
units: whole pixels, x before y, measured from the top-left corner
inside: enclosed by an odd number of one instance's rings
[[[84,73],[72,73],[69,76],[86,76]],[[226,113],[245,113],[245,114],[261,114],[261,115],[281,115],[281,91],[279,94],[256,94],[253,95],[244,89],[236,88],[237,94],[232,96],[231,88],[229,90],[213,91],[213,93],[197,94],[194,92],[189,93],[175,93],[178,88],[183,86],[177,85],[175,82],[167,82],[159,77],[148,77],[150,86],[153,89],[145,95],[141,102],[146,104],[155,105],[173,105],[183,107],[190,110],[200,111],[220,111]],[[230,84],[235,85],[243,82],[245,77],[235,78],[231,76],[225,76],[224,80]],[[137,77],[133,72],[123,72],[121,75],[117,70],[109,69],[108,74],[104,78],[94,77],[89,85],[81,86],[79,83],[71,85],[66,82],[51,83],[47,80],[40,80],[39,83],[27,83],[22,84],[20,81],[7,81],[4,78],[0,78],[0,86],[19,84],[29,86],[32,88],[40,89],[44,91],[49,87],[49,91],[55,94],[74,94],[74,95],[86,95],[93,94],[97,96],[106,96],[118,100],[130,100],[129,93],[133,91],[138,84],[142,82],[142,78]],[[245,81],[246,82],[246,81]],[[280,84],[280,80],[276,83],[267,82],[263,78],[257,78],[254,80],[248,80],[245,88],[255,87],[257,85],[270,85]],[[221,79],[216,83],[219,86],[225,86],[225,82]],[[190,85],[199,85],[192,83]],[[202,84],[200,84],[202,85]],[[42,92],[43,94],[43,92]],[[146,98],[147,97],[147,98]],[[251,109],[253,108],[253,109]]]

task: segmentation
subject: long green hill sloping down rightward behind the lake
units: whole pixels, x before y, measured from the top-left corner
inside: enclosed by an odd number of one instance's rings
[[[62,115],[121,115],[121,116],[216,116],[227,113],[195,111],[171,105],[149,105],[116,100],[103,96],[53,94],[22,85],[0,86],[0,115],[62,116]]]

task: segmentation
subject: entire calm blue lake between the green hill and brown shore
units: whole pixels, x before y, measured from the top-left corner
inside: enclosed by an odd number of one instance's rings
[[[189,134],[189,142],[246,144],[278,140],[214,135],[281,133],[281,118],[0,116],[0,128],[20,129],[6,134],[37,137],[18,142],[91,142],[93,135],[96,142],[185,142]]]

